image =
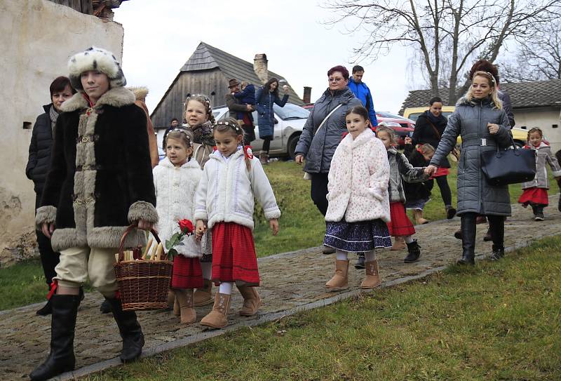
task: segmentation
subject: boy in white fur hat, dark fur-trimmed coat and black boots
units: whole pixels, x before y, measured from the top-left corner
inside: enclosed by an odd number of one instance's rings
[[[69,78],[76,93],[61,107],[52,163],[36,225],[60,251],[50,297],[50,354],[30,375],[46,380],[74,369],[79,287],[90,279],[111,305],[123,338],[121,361],[137,359],[144,335],[135,312],[123,311],[113,265],[123,232],[137,224],[126,247],[142,245],[158,221],[147,120],[110,52],[73,55]]]

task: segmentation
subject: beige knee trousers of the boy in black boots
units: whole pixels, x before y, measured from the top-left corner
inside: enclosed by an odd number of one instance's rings
[[[114,298],[117,290],[115,253],[117,248],[67,248],[60,252],[60,262],[55,267],[59,286],[78,288],[88,278],[93,287],[107,298]]]

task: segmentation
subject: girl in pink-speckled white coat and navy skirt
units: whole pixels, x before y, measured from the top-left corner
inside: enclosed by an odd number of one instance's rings
[[[348,287],[350,252],[365,252],[366,277],[360,288],[381,284],[375,248],[391,247],[390,168],[384,144],[368,126],[368,111],[355,106],[346,113],[349,131],[337,146],[328,175],[326,229],[323,244],[336,250],[335,274],[325,283],[330,290]]]

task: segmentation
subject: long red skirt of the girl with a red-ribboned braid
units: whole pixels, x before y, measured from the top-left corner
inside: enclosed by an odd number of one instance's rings
[[[219,222],[212,227],[212,281],[259,286],[257,255],[249,227]]]

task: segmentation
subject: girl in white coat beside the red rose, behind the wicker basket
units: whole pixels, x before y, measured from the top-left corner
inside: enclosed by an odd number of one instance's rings
[[[156,210],[160,217],[156,229],[165,242],[180,232],[179,220],[194,221],[195,193],[203,171],[193,155],[193,134],[175,128],[165,140],[165,159],[153,170],[156,189]],[[183,245],[176,246],[178,255],[173,260],[171,288],[179,304],[181,322],[196,321],[193,289],[203,286],[203,272],[199,258],[203,255],[201,242],[196,236],[185,236]]]

